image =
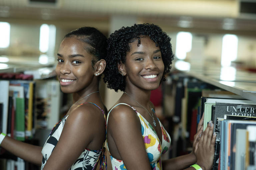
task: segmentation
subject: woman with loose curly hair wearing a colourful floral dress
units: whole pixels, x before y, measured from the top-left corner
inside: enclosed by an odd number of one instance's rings
[[[193,170],[198,166],[209,170],[216,135],[212,123],[202,133],[202,120],[193,152],[161,161],[171,139],[149,99],[150,91],[165,81],[174,57],[166,33],[153,24],[122,27],[110,35],[107,51],[104,81],[108,88],[124,92],[107,117],[107,144],[113,170]]]

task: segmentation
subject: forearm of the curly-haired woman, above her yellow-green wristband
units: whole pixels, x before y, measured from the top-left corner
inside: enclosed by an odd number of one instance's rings
[[[163,170],[186,169],[194,163],[196,163],[196,156],[193,153],[162,161]]]

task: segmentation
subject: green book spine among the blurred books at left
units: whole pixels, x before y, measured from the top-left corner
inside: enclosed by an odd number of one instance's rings
[[[16,98],[15,113],[16,139],[25,140],[25,99]]]

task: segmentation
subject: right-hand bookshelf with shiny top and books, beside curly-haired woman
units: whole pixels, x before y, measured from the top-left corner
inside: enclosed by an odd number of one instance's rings
[[[256,109],[256,73],[238,66],[176,63],[174,62],[168,77],[171,79],[171,85],[166,88],[174,89],[176,93],[172,95],[178,100],[175,100],[172,106],[175,109],[179,107],[173,116],[180,119],[180,122],[176,122],[179,128],[176,128],[176,131],[173,130],[173,148],[177,148],[175,146],[180,143],[184,144],[183,149],[176,149],[173,153],[191,151],[191,142],[196,133],[193,129],[196,129],[204,112],[204,127],[212,120],[215,125],[214,130],[217,132],[212,170],[255,168],[256,161],[253,155],[256,153],[256,138],[248,136],[253,136],[256,129],[254,111]],[[199,99],[200,102],[198,102]],[[246,136],[236,137],[238,133],[245,131]],[[175,138],[175,134],[179,137]],[[246,143],[246,148],[242,147],[241,143]],[[237,148],[239,153],[246,153],[246,156],[239,159],[234,148]],[[235,162],[239,164],[235,165]]]

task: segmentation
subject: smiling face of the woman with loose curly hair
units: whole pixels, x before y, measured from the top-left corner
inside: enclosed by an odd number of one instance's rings
[[[164,72],[161,50],[148,36],[140,39],[139,46],[137,44],[137,39],[129,43],[130,51],[126,53],[123,64],[126,88],[136,86],[154,90],[158,88]]]

